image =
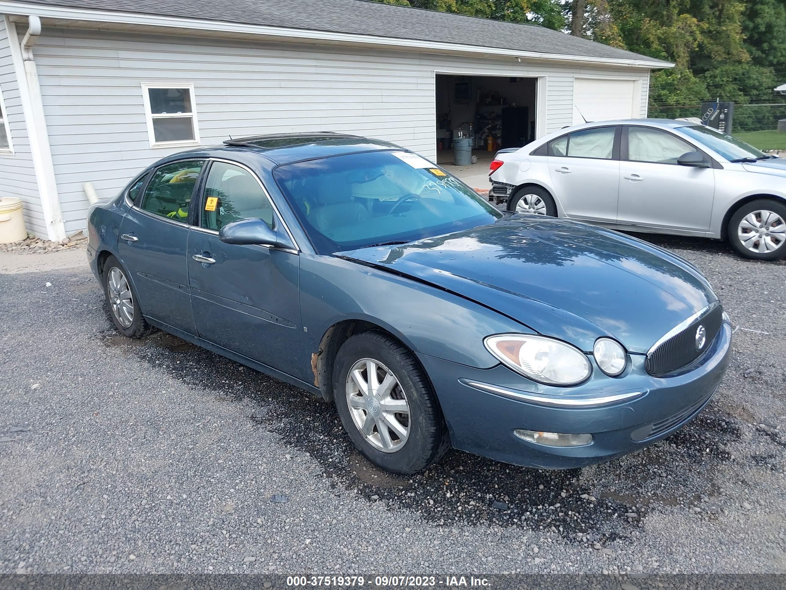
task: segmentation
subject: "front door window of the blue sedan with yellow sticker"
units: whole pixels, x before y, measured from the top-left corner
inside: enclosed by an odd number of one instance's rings
[[[220,230],[240,219],[262,219],[273,227],[273,208],[259,182],[247,170],[213,162],[204,187],[202,227]]]

